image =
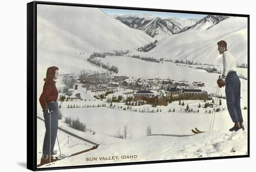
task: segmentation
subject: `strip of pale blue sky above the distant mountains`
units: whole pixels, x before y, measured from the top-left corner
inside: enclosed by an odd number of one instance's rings
[[[189,13],[169,13],[169,12],[155,12],[155,11],[140,11],[140,10],[123,10],[123,9],[111,9],[111,8],[100,8],[101,11],[108,15],[141,15],[149,14],[162,19],[177,17],[179,19],[201,19],[206,15],[202,14],[189,14]]]

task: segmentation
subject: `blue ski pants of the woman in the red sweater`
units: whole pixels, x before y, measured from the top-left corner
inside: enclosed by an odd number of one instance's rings
[[[51,111],[53,112],[51,113],[44,112],[46,132],[44,136],[43,154],[53,155],[54,144],[55,144],[57,131],[58,131],[58,102],[47,103],[47,108],[49,109],[49,112]],[[50,121],[50,118],[51,118],[51,121]],[[51,124],[51,128],[50,128],[50,124]]]

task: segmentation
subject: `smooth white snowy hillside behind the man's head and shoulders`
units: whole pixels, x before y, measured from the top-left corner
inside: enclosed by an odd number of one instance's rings
[[[225,40],[228,44],[228,50],[234,55],[237,63],[247,63],[247,30],[247,18],[229,18],[222,20],[208,30],[189,30],[164,38],[151,51],[133,51],[130,54],[222,64],[221,56],[217,51],[217,42]]]

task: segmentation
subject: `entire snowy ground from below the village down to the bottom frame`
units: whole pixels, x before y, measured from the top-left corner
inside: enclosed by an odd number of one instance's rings
[[[59,126],[83,138],[98,140],[101,145],[88,153],[55,162],[50,167],[246,155],[248,150],[247,125],[244,131],[229,132],[228,129],[233,123],[227,111],[216,113],[214,130],[203,134],[192,134],[191,129],[198,127],[209,131],[212,115],[137,113],[105,107],[61,108],[61,113],[64,118],[59,121]],[[247,111],[243,110],[244,121],[247,124],[245,114]],[[96,134],[68,127],[68,124],[63,122],[65,117],[79,118],[88,129],[92,129]],[[42,128],[42,121],[38,123],[39,128]],[[117,138],[117,134],[123,134],[125,126],[127,126],[128,138]],[[148,126],[151,129],[149,136],[146,134]],[[38,133],[40,133],[40,138],[43,138],[43,130],[38,130]],[[63,145],[67,141],[67,135],[63,135],[60,131],[58,135]],[[80,140],[73,141],[76,146],[68,150],[61,147],[63,153],[74,153],[86,149]],[[41,147],[40,140],[38,140],[38,145]],[[57,149],[56,144],[54,149]],[[121,159],[123,155],[134,157],[136,155],[137,158]],[[112,156],[117,156],[118,159],[100,160],[101,157],[109,159]],[[97,160],[87,161],[93,158]]]

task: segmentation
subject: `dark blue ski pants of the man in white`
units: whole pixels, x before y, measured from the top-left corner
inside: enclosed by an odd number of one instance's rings
[[[243,122],[243,116],[240,107],[241,83],[236,72],[229,72],[225,83],[229,115],[233,122]]]

